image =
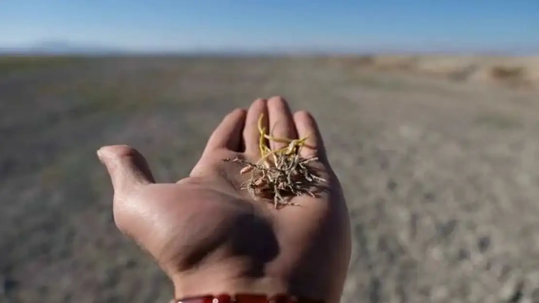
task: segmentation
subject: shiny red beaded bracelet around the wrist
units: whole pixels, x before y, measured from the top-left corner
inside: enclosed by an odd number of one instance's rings
[[[201,295],[198,297],[172,300],[170,303],[324,303],[324,300],[313,300],[287,294],[278,294],[267,297],[265,294],[241,293],[236,295]]]

